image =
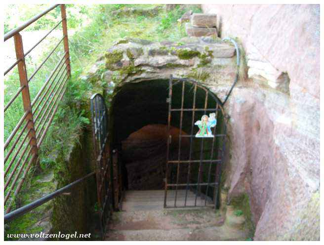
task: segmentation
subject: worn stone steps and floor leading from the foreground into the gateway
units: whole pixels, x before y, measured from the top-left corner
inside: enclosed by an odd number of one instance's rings
[[[106,241],[245,241],[247,238],[242,229],[244,218],[235,216],[231,206],[227,206],[226,212],[211,207],[163,208],[163,199],[163,191],[126,192],[123,211],[115,212],[108,224]]]

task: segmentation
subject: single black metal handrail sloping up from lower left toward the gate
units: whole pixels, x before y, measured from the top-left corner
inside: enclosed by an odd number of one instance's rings
[[[76,184],[84,181],[85,179],[87,179],[88,177],[90,177],[90,176],[92,176],[94,174],[95,174],[94,171],[91,172],[91,173],[88,173],[87,175],[83,176],[82,178],[80,178],[80,179],[78,179],[78,180],[76,180],[76,181],[74,181],[74,182],[72,182],[72,183],[70,183],[70,184],[68,184],[68,185],[66,185],[66,186],[64,186],[64,187],[62,187],[62,188],[60,188],[60,189],[58,189],[58,190],[56,190],[56,191],[42,197],[42,198],[32,202],[32,203],[30,203],[30,204],[27,204],[25,206],[17,208],[16,210],[14,210],[14,211],[12,211],[10,213],[5,214],[4,215],[4,224],[8,223],[9,221],[11,221],[11,220],[13,220],[15,218],[18,218],[19,216],[21,216],[21,215],[35,209],[36,207],[38,207],[38,206],[40,206],[40,205],[42,205],[44,203],[47,203],[48,201],[54,199],[56,196],[63,194],[65,191],[71,189]]]

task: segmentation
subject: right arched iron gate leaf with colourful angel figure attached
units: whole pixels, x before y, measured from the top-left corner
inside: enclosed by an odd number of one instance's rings
[[[164,207],[216,207],[226,135],[222,103],[199,82],[172,76],[167,102]],[[178,138],[171,126],[180,129]]]

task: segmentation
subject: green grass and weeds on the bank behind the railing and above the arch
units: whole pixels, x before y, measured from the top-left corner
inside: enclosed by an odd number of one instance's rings
[[[12,30],[13,28],[19,26],[21,23],[30,19],[31,17],[39,14],[43,9],[46,9],[49,5],[47,4],[9,4],[5,10],[6,17],[4,20],[4,33]],[[89,97],[94,92],[104,93],[104,86],[106,84],[102,81],[102,73],[105,71],[106,67],[101,67],[99,72],[96,73],[90,81],[81,79],[85,71],[88,71],[90,66],[97,60],[99,54],[103,50],[107,50],[116,41],[121,40],[120,43],[127,42],[129,38],[135,38],[139,42],[140,39],[146,39],[149,41],[179,41],[181,38],[185,37],[184,25],[177,23],[177,19],[181,15],[192,9],[194,12],[200,12],[201,10],[196,6],[183,7],[177,6],[175,9],[165,12],[163,5],[159,4],[102,4],[102,5],[74,5],[67,4],[67,21],[69,31],[69,45],[70,45],[70,60],[71,60],[71,79],[67,82],[67,89],[64,95],[64,99],[59,103],[58,110],[54,116],[53,122],[49,127],[47,134],[42,142],[39,152],[39,165],[40,167],[33,166],[27,175],[25,183],[23,184],[21,194],[18,195],[17,200],[14,200],[13,209],[19,205],[24,205],[32,202],[32,198],[37,198],[31,195],[31,192],[36,187],[40,187],[38,183],[34,182],[39,176],[47,174],[48,172],[54,172],[55,178],[58,178],[60,174],[64,173],[65,177],[67,175],[67,167],[61,164],[65,164],[62,159],[68,159],[69,154],[72,151],[73,146],[81,141],[81,133],[83,129],[90,123],[89,115]],[[128,10],[132,8],[133,10]],[[152,14],[152,11],[154,10]],[[118,12],[114,12],[118,11]],[[19,12],[19,15],[13,14]],[[118,13],[118,14],[114,14]],[[49,12],[44,17],[40,18],[39,21],[32,24],[26,29],[26,31],[40,31],[50,30],[54,25],[60,20],[60,8],[57,7],[54,11]],[[59,37],[61,36],[61,27],[57,27],[57,33],[59,36],[48,37],[44,41],[44,46],[36,48],[31,52],[33,56],[26,56],[25,62],[27,65],[27,75],[31,77],[35,69],[40,65],[44,58],[49,54],[49,52],[57,44]],[[35,34],[33,34],[35,35]],[[37,34],[38,35],[38,34]],[[40,34],[40,38],[43,34]],[[26,40],[23,38],[23,41]],[[38,41],[35,40],[35,42]],[[149,44],[149,41],[146,41]],[[31,44],[35,44],[35,42]],[[178,45],[182,45],[178,42]],[[25,50],[26,51],[26,50]],[[136,51],[140,53],[140,50]],[[37,55],[35,55],[37,53]],[[29,89],[31,94],[31,100],[33,101],[40,91],[40,88],[44,85],[46,78],[62,57],[63,45],[59,45],[54,51],[53,55],[43,64],[37,75],[29,82]],[[132,50],[127,51],[127,56],[132,60],[135,53]],[[197,56],[197,53],[178,53],[184,59],[192,56]],[[106,57],[106,65],[109,69],[111,66],[120,61],[122,55],[118,51],[113,52],[113,55]],[[9,67],[11,64],[6,64]],[[107,68],[108,68],[107,67]],[[63,69],[61,70],[56,81],[63,74]],[[115,82],[120,81],[122,75],[131,76],[131,74],[142,72],[140,69],[134,67],[133,63],[128,67],[116,71],[112,75],[112,80]],[[62,77],[63,78],[63,77]],[[6,105],[9,100],[14,96],[20,87],[17,69],[13,69],[4,78],[4,105]],[[50,91],[50,90],[49,90]],[[105,95],[105,94],[104,94]],[[45,97],[45,99],[47,96]],[[44,100],[45,100],[44,99]],[[40,108],[42,104],[40,104]],[[34,111],[36,116],[40,113],[41,109]],[[46,108],[46,107],[45,107]],[[42,115],[44,111],[41,112]],[[21,116],[24,114],[24,109],[22,106],[21,96],[12,103],[12,105],[4,113],[4,140],[6,140]],[[36,123],[40,129],[44,127],[44,123],[48,122],[48,119],[40,119]],[[22,135],[22,138],[25,134]],[[13,138],[12,142],[16,137]],[[28,140],[23,144],[23,147],[28,143]],[[11,144],[8,146],[4,152],[4,156],[8,153]],[[14,150],[14,152],[17,148]],[[18,154],[17,159],[20,158]],[[16,159],[16,161],[17,161]],[[8,167],[8,163],[12,160],[12,156],[4,164],[4,169]],[[15,162],[14,162],[15,163]],[[21,166],[18,166],[19,169]],[[26,167],[26,165],[25,165]],[[25,168],[24,167],[24,168]],[[23,169],[24,170],[24,169]],[[12,167],[9,170],[12,171]],[[63,172],[62,172],[63,171]],[[33,176],[33,178],[32,178]],[[71,177],[71,176],[70,176]],[[7,177],[5,178],[6,182]],[[61,179],[60,179],[61,181]],[[61,183],[61,182],[60,182]],[[48,183],[43,183],[44,188],[42,190],[44,193],[50,192],[50,190],[55,189],[55,186]],[[47,189],[45,186],[47,185]],[[15,190],[15,186],[13,190]],[[46,191],[47,190],[47,191]],[[5,195],[7,192],[4,193]],[[32,198],[29,198],[32,197]],[[23,200],[23,201],[21,201]],[[43,210],[40,211],[40,214]],[[33,225],[38,221],[32,219],[29,215],[25,215],[22,218],[15,220],[6,227],[6,231],[13,233],[23,233],[23,228]],[[26,222],[26,223],[25,223]],[[20,227],[22,230],[20,230]],[[29,232],[38,232],[39,228]]]

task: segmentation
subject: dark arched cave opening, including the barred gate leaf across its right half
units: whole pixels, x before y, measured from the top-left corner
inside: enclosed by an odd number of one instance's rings
[[[163,190],[164,207],[217,206],[225,123],[212,92],[189,79],[126,83],[110,118],[124,190]]]

